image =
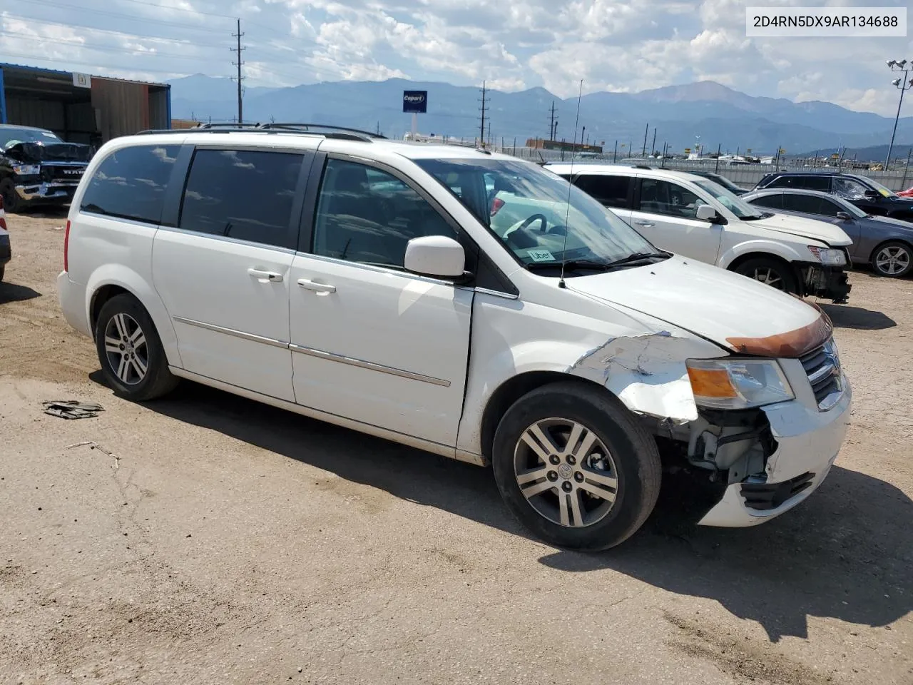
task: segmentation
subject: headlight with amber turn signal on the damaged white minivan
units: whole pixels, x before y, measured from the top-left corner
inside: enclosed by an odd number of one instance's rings
[[[772,405],[795,396],[772,359],[689,359],[687,375],[695,402],[715,409]]]

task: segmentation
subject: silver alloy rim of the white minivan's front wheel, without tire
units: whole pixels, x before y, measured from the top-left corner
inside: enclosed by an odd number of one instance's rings
[[[545,418],[523,431],[514,449],[514,474],[533,509],[569,528],[602,521],[618,496],[609,450],[571,419]]]

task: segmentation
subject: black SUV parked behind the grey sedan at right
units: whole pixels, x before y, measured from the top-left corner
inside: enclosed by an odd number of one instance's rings
[[[761,188],[792,188],[831,193],[844,197],[867,214],[913,221],[913,200],[900,197],[866,176],[837,172],[776,172],[761,178],[755,190]]]

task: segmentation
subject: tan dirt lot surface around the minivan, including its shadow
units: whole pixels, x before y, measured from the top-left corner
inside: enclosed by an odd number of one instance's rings
[[[910,280],[825,306],[855,411],[813,497],[722,530],[664,494],[580,554],[486,469],[201,386],[118,399],[58,310],[65,218],[7,219],[0,682],[913,683]]]

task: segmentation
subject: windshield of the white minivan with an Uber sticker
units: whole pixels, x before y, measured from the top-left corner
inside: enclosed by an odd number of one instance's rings
[[[536,164],[500,159],[415,163],[456,195],[524,266],[559,265],[562,259],[606,265],[657,252],[590,195]]]

